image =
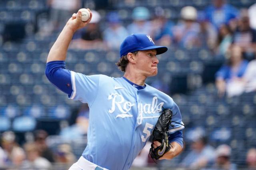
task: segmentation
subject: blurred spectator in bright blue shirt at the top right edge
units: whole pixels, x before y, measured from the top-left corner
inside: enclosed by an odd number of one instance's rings
[[[226,0],[212,0],[212,5],[205,9],[206,19],[210,21],[216,29],[222,24],[235,26],[239,12],[233,6],[226,4]]]

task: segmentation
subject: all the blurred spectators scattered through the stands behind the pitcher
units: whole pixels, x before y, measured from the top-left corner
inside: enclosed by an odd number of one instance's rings
[[[60,31],[72,13],[81,8],[82,0],[48,0],[50,20],[41,23],[38,33],[49,36]],[[128,0],[126,0],[128,1]],[[206,48],[223,61],[216,72],[218,96],[237,96],[256,90],[256,4],[250,8],[238,9],[225,0],[212,0],[210,6],[198,10],[185,6],[180,10],[180,19],[172,21],[161,7],[154,12],[143,6],[132,10],[132,22],[125,23],[115,10],[106,12],[103,20],[100,11],[92,10],[93,18],[85,27],[78,30],[70,44],[70,49],[104,49],[118,51],[120,43],[132,33],[150,35],[157,45],[179,49]],[[93,9],[93,8],[92,8]],[[107,10],[106,10],[107,11]],[[104,22],[102,27],[101,22]],[[168,91],[162,82],[152,86]],[[167,92],[168,93],[168,92]],[[59,135],[65,139],[86,136],[89,121],[89,108],[82,105],[76,113],[72,125],[61,129]],[[63,143],[52,148],[47,143],[48,134],[44,130],[34,132],[30,140],[17,143],[12,131],[2,133],[0,139],[0,169],[58,169],[53,164],[70,165],[76,161],[72,147]],[[236,170],[237,165],[230,161],[232,149],[222,144],[217,148],[209,145],[207,137],[194,137],[190,151],[177,166],[187,169]],[[152,165],[148,158],[150,143],[134,160],[134,166]],[[84,149],[84,148],[83,148]],[[248,170],[256,170],[256,148],[246,154]],[[164,161],[162,161],[164,164]],[[160,161],[160,165],[162,164]],[[63,169],[63,168],[60,168]]]

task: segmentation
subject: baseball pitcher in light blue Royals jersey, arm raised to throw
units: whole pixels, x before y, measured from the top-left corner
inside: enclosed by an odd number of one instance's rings
[[[89,9],[88,9],[89,10]],[[156,55],[167,47],[154,45],[150,36],[132,34],[120,46],[116,63],[124,76],[86,76],[67,70],[65,59],[74,32],[92,18],[81,21],[81,12],[68,20],[49,52],[45,74],[72,100],[90,107],[88,143],[70,170],[127,170],[153,133],[150,155],[172,159],[183,147],[182,117],[176,103],[145,80],[155,76]]]

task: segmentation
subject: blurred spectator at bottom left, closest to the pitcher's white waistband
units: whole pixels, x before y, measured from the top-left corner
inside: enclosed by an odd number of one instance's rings
[[[56,158],[58,163],[67,164],[67,166],[76,162],[76,158],[68,144],[61,144],[58,146]]]

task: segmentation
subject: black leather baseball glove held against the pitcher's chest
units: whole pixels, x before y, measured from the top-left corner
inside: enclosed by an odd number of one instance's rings
[[[156,126],[152,132],[153,143],[151,144],[151,148],[149,150],[149,154],[152,159],[158,160],[171,149],[168,141],[168,129],[171,122],[172,110],[164,109],[161,115],[159,116],[158,121],[156,122]],[[156,146],[154,145],[154,141],[160,142],[161,145],[159,147],[154,148],[154,146]]]

